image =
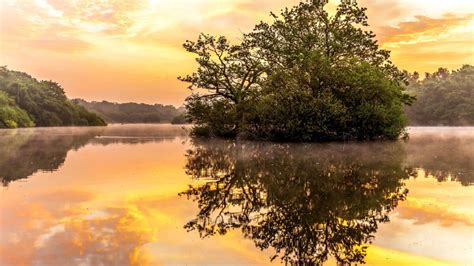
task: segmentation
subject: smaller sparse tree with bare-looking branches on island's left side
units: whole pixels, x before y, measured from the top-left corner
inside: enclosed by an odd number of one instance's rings
[[[246,43],[231,45],[223,36],[201,34],[196,42],[187,41],[184,48],[196,54],[199,67],[195,73],[179,79],[190,83],[189,89],[193,91],[208,92],[188,97],[186,108],[191,121],[201,129],[213,128],[214,115],[223,113],[227,122],[212,131],[235,135],[245,124],[246,104],[258,93],[263,73],[260,60],[252,56]]]

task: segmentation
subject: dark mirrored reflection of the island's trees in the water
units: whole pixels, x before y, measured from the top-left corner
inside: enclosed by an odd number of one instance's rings
[[[362,263],[379,223],[408,193],[403,147],[392,144],[199,143],[187,153],[197,185],[183,192],[202,237],[240,228],[290,264]]]

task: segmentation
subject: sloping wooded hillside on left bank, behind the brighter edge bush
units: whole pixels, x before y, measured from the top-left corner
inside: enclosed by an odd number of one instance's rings
[[[104,126],[98,115],[68,100],[53,81],[38,81],[26,73],[0,69],[0,92],[24,110],[36,126]],[[19,127],[32,123],[17,123]]]

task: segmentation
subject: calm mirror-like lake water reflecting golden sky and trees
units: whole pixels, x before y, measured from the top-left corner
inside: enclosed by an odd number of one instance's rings
[[[168,125],[0,130],[0,265],[472,265],[474,128],[410,132],[271,144]]]

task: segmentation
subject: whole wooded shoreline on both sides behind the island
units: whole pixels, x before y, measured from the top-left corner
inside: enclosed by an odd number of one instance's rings
[[[406,107],[413,126],[474,125],[474,66],[440,68],[421,77],[409,76],[407,91],[416,96]],[[171,105],[87,102],[67,99],[53,81],[0,67],[0,128],[32,126],[102,126],[110,123],[185,124],[184,108]]]

